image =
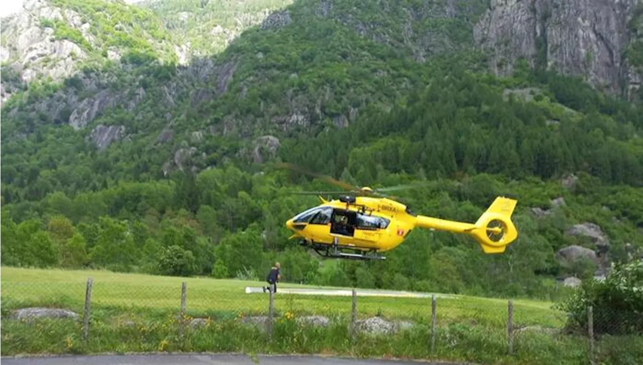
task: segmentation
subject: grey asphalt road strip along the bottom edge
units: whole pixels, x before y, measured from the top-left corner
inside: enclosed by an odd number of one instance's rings
[[[263,356],[255,358],[248,355],[194,355],[194,354],[159,354],[159,355],[96,355],[96,356],[60,356],[60,357],[23,357],[0,359],[0,365],[254,365],[254,364],[303,364],[303,365],[455,365],[452,362],[419,362],[375,359],[345,359],[341,357],[321,356]]]

